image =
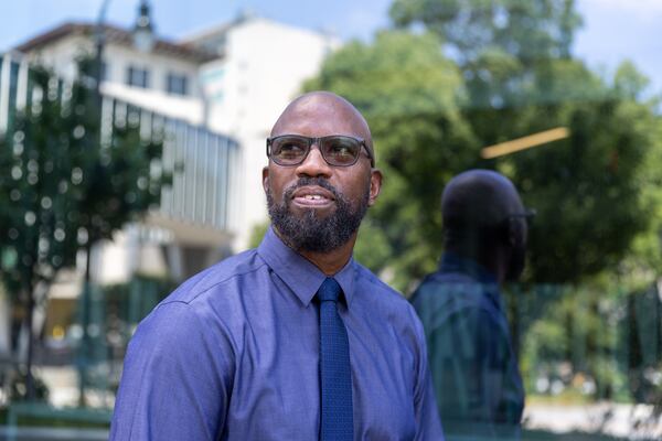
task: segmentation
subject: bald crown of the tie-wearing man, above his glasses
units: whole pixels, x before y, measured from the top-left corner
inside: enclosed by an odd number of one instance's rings
[[[309,133],[316,133],[317,137],[346,135],[361,138],[374,165],[375,152],[367,121],[350,101],[339,95],[325,90],[301,95],[285,108],[271,129],[271,138],[279,135],[311,136]]]

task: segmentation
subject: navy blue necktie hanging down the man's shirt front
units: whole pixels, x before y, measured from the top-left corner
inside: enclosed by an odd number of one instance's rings
[[[318,291],[320,300],[320,377],[322,389],[322,441],[352,441],[352,372],[348,331],[338,313],[341,288],[327,278]]]

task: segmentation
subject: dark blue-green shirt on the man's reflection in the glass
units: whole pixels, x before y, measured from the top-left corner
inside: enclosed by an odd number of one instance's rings
[[[425,327],[446,437],[519,439],[524,389],[494,276],[447,252],[412,302]]]

